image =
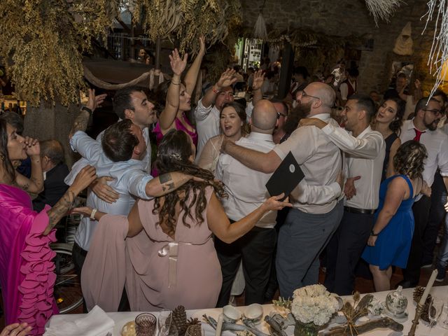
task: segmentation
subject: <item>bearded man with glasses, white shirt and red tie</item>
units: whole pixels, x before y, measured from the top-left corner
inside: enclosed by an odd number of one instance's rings
[[[403,144],[408,140],[419,141],[426,147],[428,158],[425,161],[423,179],[432,186],[437,167],[440,169],[445,187],[448,186],[448,136],[437,129],[443,111],[440,103],[434,98],[422,98],[415,106],[415,116],[403,123],[400,139]],[[423,255],[423,235],[428,223],[430,197],[421,195],[416,199],[412,212],[414,213],[414,236],[407,267],[403,269],[403,278],[399,284],[404,288],[419,284],[420,267]]]

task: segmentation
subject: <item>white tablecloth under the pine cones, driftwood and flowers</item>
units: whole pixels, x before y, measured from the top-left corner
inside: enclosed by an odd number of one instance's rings
[[[408,318],[407,321],[400,321],[400,323],[402,323],[404,325],[404,330],[402,332],[402,335],[407,335],[407,332],[409,332],[409,329],[411,328],[412,325],[412,320],[414,319],[414,315],[415,315],[415,307],[416,304],[414,304],[413,299],[412,299],[412,292],[413,289],[405,289],[403,290],[403,293],[407,296],[407,312],[408,312]],[[379,292],[379,293],[374,293],[374,296],[377,298],[377,300],[383,302],[386,299],[386,295],[388,292]],[[430,291],[431,295],[433,295],[434,297],[437,297],[441,300],[444,300],[444,302],[448,301],[448,286],[438,286],[438,287],[434,287],[431,289]],[[361,295],[363,296],[363,295]],[[344,297],[344,300],[346,299],[350,299],[351,297]],[[237,309],[239,309],[241,311],[241,313],[244,313],[246,307],[237,307]],[[274,306],[272,304],[264,304],[263,305],[263,309],[264,309],[264,314],[268,315],[270,311],[272,311],[274,308]],[[218,319],[219,314],[221,313],[222,309],[201,309],[201,310],[189,310],[187,311],[187,315],[188,318],[190,317],[197,317],[200,319],[200,321],[204,321],[202,318],[203,314],[207,314],[209,316],[214,317],[216,320]],[[123,328],[123,325],[125,325],[125,323],[129,322],[129,321],[134,321],[135,317],[140,314],[137,311],[131,311],[131,312],[124,312],[124,313],[107,313],[109,317],[111,317],[113,319],[113,321],[115,321],[116,325],[113,328],[113,330],[111,330],[112,335],[113,336],[120,336],[120,331],[121,328]],[[153,313],[155,316],[158,315],[157,312]],[[78,318],[83,317],[84,314],[70,314],[70,315],[55,315],[52,316],[52,318],[50,319],[49,324],[52,325],[53,323],[57,322],[57,321],[74,321]],[[441,321],[440,323],[437,323],[437,325],[433,328],[433,330],[430,332],[431,336],[435,336],[435,335],[439,335],[439,336],[448,336],[448,330],[444,329],[442,327],[440,327],[439,325],[442,324],[442,319],[444,319],[446,317],[446,313],[443,313],[441,316]],[[262,330],[265,333],[269,333],[267,331],[267,323],[265,323],[264,321],[258,325],[258,328],[260,328],[260,330]],[[214,329],[211,328],[211,326],[209,325],[205,325],[204,330],[206,330],[207,335],[214,335]],[[388,336],[390,335],[392,332],[392,330],[389,329],[376,329],[373,330],[372,332],[367,332],[363,335],[371,335],[371,336]],[[288,335],[293,335],[293,328],[288,328],[287,330]],[[422,321],[420,321],[419,325],[417,326],[416,329],[416,335],[418,336],[423,336],[423,335],[428,335],[429,333],[429,327],[428,325],[426,325],[426,323],[422,323]],[[63,335],[63,334],[61,334]],[[223,335],[234,335],[231,334],[230,332],[223,332]],[[398,335],[398,334],[395,334]],[[99,336],[105,336],[105,335],[99,335]]]

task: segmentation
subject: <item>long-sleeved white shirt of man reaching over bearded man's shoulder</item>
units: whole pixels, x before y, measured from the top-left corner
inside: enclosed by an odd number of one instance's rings
[[[381,133],[368,126],[358,137],[353,137],[342,127],[327,125],[323,132],[345,152],[346,177],[361,176],[355,181],[356,195],[345,200],[344,205],[358,209],[377,209],[379,185],[383,170],[386,143]]]

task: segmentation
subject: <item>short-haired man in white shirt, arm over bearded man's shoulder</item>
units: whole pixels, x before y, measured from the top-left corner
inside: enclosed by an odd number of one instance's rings
[[[300,125],[320,128],[346,156],[344,171],[349,179],[345,188],[344,216],[327,246],[325,276],[325,287],[339,295],[353,292],[356,264],[372,233],[373,214],[379,203],[386,144],[381,133],[370,128],[375,111],[370,97],[355,94],[341,113],[345,130],[318,119],[300,121]]]

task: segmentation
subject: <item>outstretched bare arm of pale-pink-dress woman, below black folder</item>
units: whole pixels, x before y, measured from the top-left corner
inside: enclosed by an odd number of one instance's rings
[[[216,235],[216,237],[225,243],[230,244],[251,230],[267,211],[281,210],[283,207],[292,207],[292,204],[289,202],[280,202],[279,200],[282,197],[283,194],[270,197],[261,204],[260,207],[252,211],[251,214],[230,224],[229,218],[225,214],[221,202],[219,202],[215,193],[212,193],[209,208],[207,209],[209,229]]]

